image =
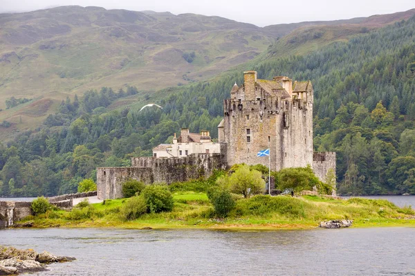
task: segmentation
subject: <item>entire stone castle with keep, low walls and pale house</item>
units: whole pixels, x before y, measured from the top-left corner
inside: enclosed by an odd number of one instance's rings
[[[288,77],[257,79],[257,72],[243,73],[244,83],[234,84],[230,99],[223,101],[219,142],[208,131],[190,134],[182,129],[173,144],[153,149],[153,157],[131,158],[131,167],[97,168],[99,199],[122,197],[128,178],[145,183],[187,181],[207,177],[214,169],[237,163],[263,164],[278,171],[311,165],[325,181],[335,172],[334,152],[313,152],[313,86]],[[270,149],[270,157],[257,153]]]

